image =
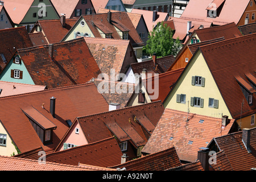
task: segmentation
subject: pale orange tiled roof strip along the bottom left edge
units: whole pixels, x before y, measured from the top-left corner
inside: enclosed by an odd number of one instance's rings
[[[14,158],[10,156],[0,156],[0,169],[1,171],[112,171],[112,169],[97,166],[72,166],[52,163],[47,160],[46,163],[43,164],[39,163],[38,160]]]

